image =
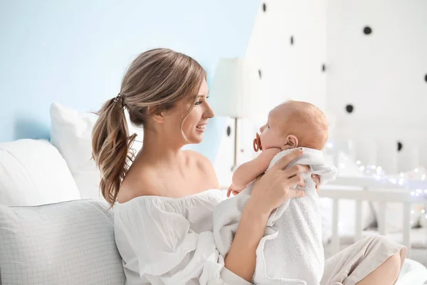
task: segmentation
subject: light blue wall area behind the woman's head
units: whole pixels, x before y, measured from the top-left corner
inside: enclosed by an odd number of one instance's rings
[[[193,56],[210,79],[219,57],[244,55],[258,9],[259,0],[0,0],[0,141],[48,138],[53,102],[97,110],[149,48]],[[194,147],[211,160],[224,122]]]

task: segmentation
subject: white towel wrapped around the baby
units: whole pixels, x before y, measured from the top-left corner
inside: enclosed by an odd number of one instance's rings
[[[285,150],[275,155],[268,170],[292,151]],[[289,199],[270,215],[265,234],[256,250],[254,284],[320,284],[322,279],[325,260],[322,217],[311,174],[320,175],[320,182],[325,184],[334,180],[337,168],[325,163],[320,150],[309,148],[305,148],[304,154],[288,167],[296,164],[310,165],[312,169],[303,175],[306,186],[297,187],[304,190],[306,196]],[[214,209],[214,237],[223,257],[228,254],[252,188],[253,184]]]

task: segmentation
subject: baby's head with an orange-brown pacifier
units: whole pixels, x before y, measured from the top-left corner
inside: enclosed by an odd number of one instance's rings
[[[270,111],[260,133],[258,142],[262,150],[272,147],[281,150],[294,147],[322,150],[328,138],[328,124],[325,115],[315,105],[287,101]]]

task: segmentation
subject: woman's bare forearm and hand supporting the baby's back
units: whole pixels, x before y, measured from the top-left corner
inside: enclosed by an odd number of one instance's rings
[[[290,187],[305,186],[300,174],[310,170],[310,167],[294,165],[286,169],[290,162],[301,154],[302,151],[295,150],[285,155],[263,177],[255,181],[251,198],[243,209],[241,221],[225,260],[226,268],[246,281],[252,281],[256,249],[263,237],[271,211],[287,199],[305,195],[302,190],[291,190]]]

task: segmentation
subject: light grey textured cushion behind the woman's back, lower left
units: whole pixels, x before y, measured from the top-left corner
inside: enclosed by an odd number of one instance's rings
[[[0,280],[11,284],[125,284],[112,211],[100,200],[0,205]]]

